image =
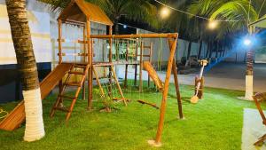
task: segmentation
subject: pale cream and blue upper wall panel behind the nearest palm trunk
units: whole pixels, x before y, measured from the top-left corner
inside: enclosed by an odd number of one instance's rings
[[[51,62],[49,13],[28,11],[27,15],[36,61]],[[0,25],[0,64],[16,64],[17,59],[12,43],[11,28],[4,4],[0,4]]]

